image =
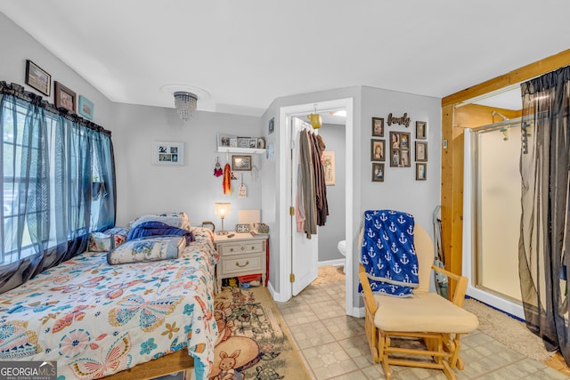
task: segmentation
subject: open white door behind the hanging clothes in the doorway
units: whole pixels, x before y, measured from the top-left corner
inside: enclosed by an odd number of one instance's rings
[[[296,206],[297,172],[299,164],[299,135],[303,129],[312,129],[311,125],[298,117],[290,117],[291,158],[290,171],[291,188],[289,189],[291,206]],[[291,269],[294,280],[291,282],[292,295],[298,295],[314,279],[317,278],[317,263],[319,260],[319,239],[316,235],[306,239],[304,232],[297,232],[297,220],[291,216]]]

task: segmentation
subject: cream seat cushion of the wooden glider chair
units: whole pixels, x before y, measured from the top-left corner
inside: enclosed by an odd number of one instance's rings
[[[475,314],[436,293],[395,298],[374,295],[379,305],[374,324],[382,330],[422,333],[468,333],[479,326]]]

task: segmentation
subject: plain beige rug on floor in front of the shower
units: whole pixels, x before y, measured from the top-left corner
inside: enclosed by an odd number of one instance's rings
[[[477,316],[479,331],[493,336],[511,350],[539,361],[549,360],[554,355],[553,352],[546,351],[542,339],[531,333],[524,322],[473,298],[466,299],[463,308]]]

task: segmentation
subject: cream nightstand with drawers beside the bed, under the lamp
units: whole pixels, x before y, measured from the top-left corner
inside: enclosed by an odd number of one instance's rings
[[[265,286],[267,276],[268,234],[231,232],[228,235],[215,235],[214,243],[220,255],[216,265],[218,291],[222,290],[222,279],[261,273],[261,285]]]

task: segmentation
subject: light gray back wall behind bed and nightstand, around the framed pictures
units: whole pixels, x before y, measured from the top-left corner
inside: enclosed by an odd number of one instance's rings
[[[223,177],[214,176],[216,157],[222,167],[226,162],[226,155],[217,153],[216,135],[258,137],[259,117],[198,111],[184,123],[175,109],[118,104],[115,120],[120,125],[113,133],[118,225],[126,225],[139,214],[185,211],[193,225],[212,221],[220,229],[214,203],[224,201],[232,203],[232,213],[224,220],[224,228],[232,230],[238,222],[238,210],[261,207],[261,179],[265,170],[259,155],[253,156],[253,164],[259,169],[256,182],[251,172],[241,172],[248,198],[238,199],[240,181],[232,181],[232,195],[224,195]],[[182,141],[184,165],[153,164],[154,141]],[[232,155],[228,159],[231,165]]]

